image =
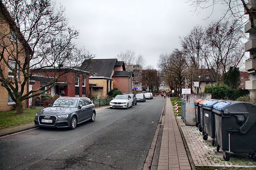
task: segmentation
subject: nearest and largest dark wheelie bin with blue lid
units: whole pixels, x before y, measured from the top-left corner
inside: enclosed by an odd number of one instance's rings
[[[213,106],[217,151],[223,150],[228,161],[230,154],[250,154],[256,160],[256,105],[226,101]]]

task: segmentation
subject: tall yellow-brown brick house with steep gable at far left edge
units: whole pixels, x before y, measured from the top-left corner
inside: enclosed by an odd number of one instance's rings
[[[0,78],[2,82],[4,80],[12,81],[14,76],[16,76],[18,84],[14,85],[14,87],[21,89],[24,76],[18,71],[19,68],[17,68],[15,65],[18,62],[22,66],[25,62],[26,55],[32,54],[32,50],[20,33],[20,30],[16,26],[14,20],[11,18],[8,10],[2,4],[2,1],[0,1],[0,38],[0,68],[2,72]],[[12,69],[15,70],[17,68],[17,72],[14,73],[10,68],[8,68],[4,61],[8,62]],[[28,92],[28,82],[24,83],[26,83],[24,86],[24,93],[26,93]],[[3,86],[0,86],[0,94],[0,110],[3,111],[13,109],[13,105],[15,103],[10,97],[6,88]],[[24,100],[22,104],[24,108],[27,108],[28,100]]]

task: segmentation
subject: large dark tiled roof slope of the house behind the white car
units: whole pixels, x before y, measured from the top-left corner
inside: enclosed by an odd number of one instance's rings
[[[117,59],[91,59],[89,63],[85,60],[82,64],[82,70],[90,72],[90,75],[109,77],[118,63]]]

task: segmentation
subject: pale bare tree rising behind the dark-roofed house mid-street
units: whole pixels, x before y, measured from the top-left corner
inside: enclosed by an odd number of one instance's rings
[[[118,55],[116,55],[118,60],[124,61],[125,68],[127,71],[132,70],[133,65],[140,65],[142,68],[146,65],[146,59],[143,55],[136,55],[135,51],[126,50],[121,51]]]

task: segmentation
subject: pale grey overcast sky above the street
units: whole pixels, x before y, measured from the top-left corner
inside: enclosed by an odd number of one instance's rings
[[[78,47],[96,59],[112,59],[127,49],[157,68],[159,55],[180,48],[180,37],[197,24],[220,18],[218,8],[196,15],[187,0],[56,0],[66,8],[70,25],[80,31]],[[208,20],[204,20],[210,16]]]

